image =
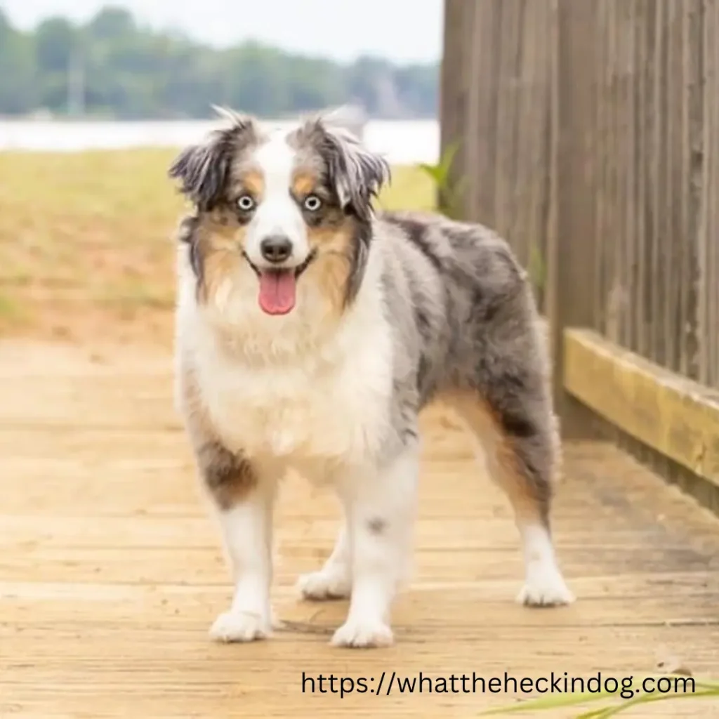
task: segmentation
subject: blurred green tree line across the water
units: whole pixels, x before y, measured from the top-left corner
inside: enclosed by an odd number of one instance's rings
[[[437,100],[436,64],[342,65],[256,42],[219,50],[114,7],[83,26],[53,17],[20,32],[0,10],[0,115],[203,118],[224,104],[278,117],[352,102],[372,116],[434,117]]]

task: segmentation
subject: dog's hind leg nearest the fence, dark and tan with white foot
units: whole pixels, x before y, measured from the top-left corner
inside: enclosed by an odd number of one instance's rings
[[[465,390],[452,404],[479,440],[490,477],[514,511],[525,565],[517,601],[531,606],[572,603],[551,539],[549,515],[559,446],[549,403],[526,397],[521,386],[502,377],[482,390]]]

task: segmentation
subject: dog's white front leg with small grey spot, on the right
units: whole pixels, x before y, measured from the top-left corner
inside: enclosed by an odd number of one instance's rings
[[[352,597],[335,646],[393,643],[390,610],[411,563],[418,448],[406,446],[370,475],[350,475],[342,486],[351,545]]]

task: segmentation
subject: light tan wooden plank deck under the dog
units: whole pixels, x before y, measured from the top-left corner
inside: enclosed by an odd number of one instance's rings
[[[275,588],[288,627],[217,646],[207,630],[230,586],[173,412],[170,359],[0,346],[0,717],[470,717],[513,701],[396,685],[389,696],[303,693],[303,672],[370,688],[382,672],[385,686],[392,672],[621,679],[673,654],[719,676],[719,521],[610,447],[568,446],[555,536],[578,600],[522,608],[505,500],[460,431],[438,416],[425,426],[416,578],[395,611],[397,644],[332,649],[346,605],[296,600],[298,572],[331,549],[336,507],[292,481]],[[719,706],[628,714],[660,715]]]

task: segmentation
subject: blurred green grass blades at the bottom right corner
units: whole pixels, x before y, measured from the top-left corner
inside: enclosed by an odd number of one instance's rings
[[[719,698],[719,681],[713,679],[687,679],[679,674],[662,674],[662,678],[675,679],[679,682],[686,682],[684,686],[692,684],[693,691],[686,693],[667,694],[638,694],[630,699],[620,700],[606,705],[607,700],[615,699],[616,692],[577,692],[572,695],[559,697],[544,697],[542,699],[520,702],[507,707],[498,707],[482,712],[481,716],[521,714],[526,712],[540,712],[552,709],[577,707],[590,702],[605,702],[605,706],[598,709],[591,709],[577,714],[575,719],[608,719],[620,713],[630,710],[638,705],[651,704],[653,702],[666,702],[671,700],[705,699],[707,697]],[[645,677],[654,679],[655,677]]]

